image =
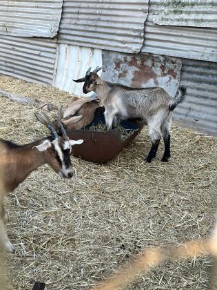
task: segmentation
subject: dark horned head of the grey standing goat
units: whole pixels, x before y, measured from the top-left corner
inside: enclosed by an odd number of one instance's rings
[[[83,83],[83,93],[87,94],[92,92],[92,90],[96,90],[97,86],[97,79],[99,78],[97,75],[97,72],[101,70],[102,68],[95,68],[92,72],[90,71],[91,68],[88,68],[85,77],[82,77],[81,79],[73,79],[76,83]]]

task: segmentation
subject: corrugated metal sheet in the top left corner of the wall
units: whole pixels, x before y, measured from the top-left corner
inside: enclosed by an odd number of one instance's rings
[[[63,0],[0,1],[0,34],[54,37],[59,29]]]

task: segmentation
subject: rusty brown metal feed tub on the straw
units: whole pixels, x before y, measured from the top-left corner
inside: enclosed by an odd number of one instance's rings
[[[72,155],[75,157],[81,157],[83,160],[98,164],[106,163],[113,160],[141,131],[141,126],[137,124],[127,121],[121,122],[123,128],[132,130],[132,135],[127,137],[123,142],[121,141],[121,132],[118,128],[107,132],[88,131],[87,129],[90,126],[96,126],[99,122],[105,124],[104,110],[105,108],[103,107],[96,109],[94,120],[85,130],[68,131],[70,139],[84,140],[83,144],[72,147]]]

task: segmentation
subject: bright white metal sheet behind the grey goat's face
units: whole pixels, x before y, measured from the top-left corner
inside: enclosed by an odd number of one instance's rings
[[[75,83],[72,79],[85,76],[87,69],[92,66],[102,66],[102,50],[58,44],[58,61],[54,86],[77,96],[90,97],[93,93],[83,94],[83,83]],[[98,73],[101,75],[101,71]]]

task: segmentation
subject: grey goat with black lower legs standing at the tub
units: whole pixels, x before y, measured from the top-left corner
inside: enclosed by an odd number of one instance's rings
[[[163,88],[129,88],[120,84],[104,81],[97,72],[89,68],[85,77],[76,79],[84,82],[83,93],[94,91],[105,106],[105,122],[107,130],[115,128],[121,119],[130,119],[140,124],[147,124],[152,147],[145,157],[151,162],[156,156],[158,145],[163,136],[165,151],[162,161],[167,162],[170,157],[169,128],[172,122],[172,111],[183,101],[185,88],[178,88],[176,97],[171,97]]]

